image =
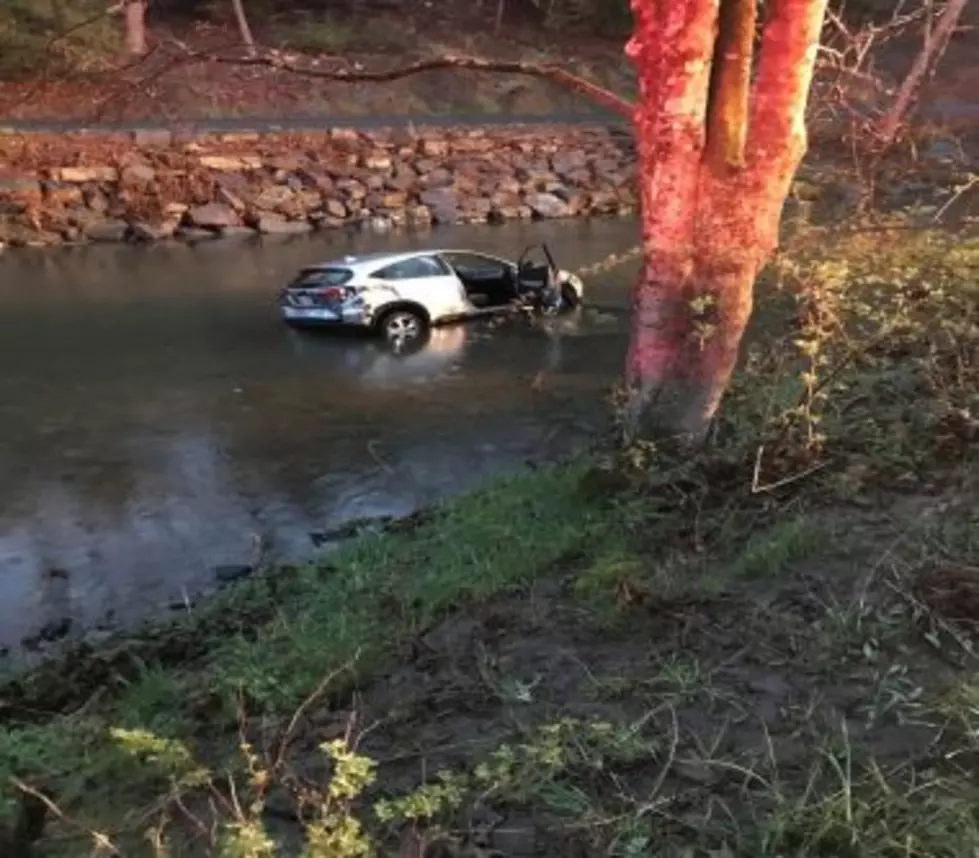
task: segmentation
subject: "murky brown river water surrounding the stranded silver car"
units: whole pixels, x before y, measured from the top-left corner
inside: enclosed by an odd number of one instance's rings
[[[546,239],[587,265],[629,220],[0,256],[0,645],[157,616],[310,534],[401,514],[575,449],[622,362],[634,268],[585,311],[466,323],[397,358],[280,324],[301,265],[356,250]],[[620,308],[620,312],[615,312]],[[546,373],[540,389],[533,384]],[[69,622],[70,621],[70,624]]]

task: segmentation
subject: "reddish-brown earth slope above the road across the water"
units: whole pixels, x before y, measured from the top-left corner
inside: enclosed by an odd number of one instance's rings
[[[495,59],[560,62],[614,89],[629,91],[631,70],[621,39],[558,37],[532,24],[509,24],[491,34],[474,4],[438,9],[412,4],[411,12],[344,18],[333,25],[273,21],[256,39],[290,53],[301,51],[321,68],[384,68],[427,56],[464,53]],[[451,6],[452,4],[450,4]],[[339,28],[339,29],[338,29]],[[299,41],[298,47],[292,43]],[[189,121],[215,117],[369,116],[372,114],[554,113],[591,110],[566,90],[526,77],[431,72],[386,84],[344,84],[267,68],[188,62],[193,53],[236,50],[229,21],[159,26],[144,59],[102,73],[0,82],[0,114],[10,119],[62,121]],[[555,49],[556,48],[556,49]]]

